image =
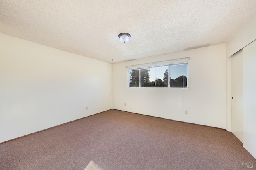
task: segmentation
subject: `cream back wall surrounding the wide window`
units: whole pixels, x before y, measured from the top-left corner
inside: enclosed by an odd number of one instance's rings
[[[127,88],[126,66],[184,57],[190,57],[191,91]],[[113,98],[114,109],[226,128],[226,44],[113,64]]]

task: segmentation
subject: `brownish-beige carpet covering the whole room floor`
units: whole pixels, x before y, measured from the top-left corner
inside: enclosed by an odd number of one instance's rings
[[[0,170],[84,170],[91,160],[104,170],[256,167],[230,132],[118,110],[0,145]]]

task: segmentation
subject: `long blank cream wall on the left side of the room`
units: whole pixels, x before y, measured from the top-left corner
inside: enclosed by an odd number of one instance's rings
[[[112,64],[0,33],[0,142],[112,109],[111,76]]]

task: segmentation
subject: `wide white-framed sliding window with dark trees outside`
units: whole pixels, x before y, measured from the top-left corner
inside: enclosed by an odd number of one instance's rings
[[[187,88],[188,62],[128,68],[128,87]],[[132,66],[130,66],[132,67]],[[134,66],[133,66],[134,67]]]

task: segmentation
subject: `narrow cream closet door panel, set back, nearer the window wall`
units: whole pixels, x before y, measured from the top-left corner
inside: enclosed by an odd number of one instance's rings
[[[232,55],[232,133],[243,142],[243,51]]]

